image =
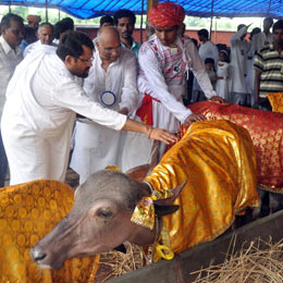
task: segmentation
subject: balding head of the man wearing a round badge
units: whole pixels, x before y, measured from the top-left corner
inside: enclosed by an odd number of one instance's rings
[[[97,49],[102,62],[112,63],[121,54],[121,40],[119,32],[113,26],[102,26],[98,30]]]

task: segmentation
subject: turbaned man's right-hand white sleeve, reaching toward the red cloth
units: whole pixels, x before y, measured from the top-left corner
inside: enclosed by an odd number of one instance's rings
[[[192,71],[201,88],[205,93],[205,96],[209,99],[212,96],[216,96],[217,93],[213,90],[208,74],[206,73],[205,65],[200,60],[200,57],[197,52],[193,41],[188,41],[185,46],[185,52],[187,52],[188,58],[190,58],[190,67]]]

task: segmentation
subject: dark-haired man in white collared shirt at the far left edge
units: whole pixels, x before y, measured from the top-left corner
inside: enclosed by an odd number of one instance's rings
[[[5,102],[5,90],[16,65],[22,61],[23,56],[20,49],[23,39],[24,20],[15,14],[7,14],[1,20],[0,37],[0,121]],[[0,187],[4,186],[8,169],[5,150],[1,137],[0,125]]]

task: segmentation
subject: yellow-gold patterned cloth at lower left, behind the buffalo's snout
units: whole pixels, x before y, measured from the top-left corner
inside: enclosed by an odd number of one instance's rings
[[[39,180],[0,189],[0,283],[93,282],[99,256],[73,258],[60,270],[40,269],[29,249],[67,214],[74,190]]]

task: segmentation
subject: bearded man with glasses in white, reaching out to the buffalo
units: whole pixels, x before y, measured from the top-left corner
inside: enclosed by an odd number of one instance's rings
[[[37,179],[64,181],[75,112],[115,131],[137,131],[167,143],[175,137],[149,128],[86,96],[82,78],[91,66],[88,36],[66,33],[58,49],[41,46],[17,65],[7,89],[1,128],[11,185]]]

